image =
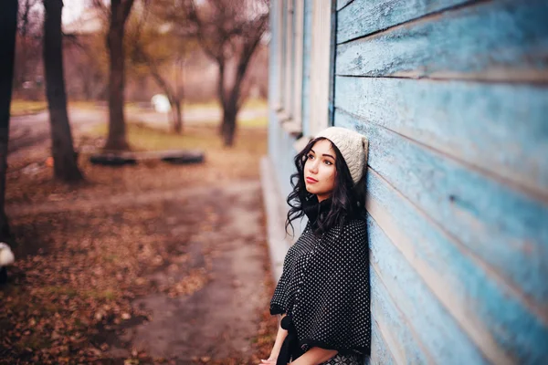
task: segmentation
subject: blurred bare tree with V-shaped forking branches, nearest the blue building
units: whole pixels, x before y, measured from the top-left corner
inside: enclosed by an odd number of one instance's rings
[[[237,112],[244,101],[241,95],[242,81],[249,61],[268,27],[268,2],[205,0],[199,7],[195,0],[180,2],[184,3],[186,21],[194,26],[200,46],[219,69],[217,97],[223,108],[219,132],[224,144],[231,146],[236,132]],[[231,75],[230,62],[236,65]]]

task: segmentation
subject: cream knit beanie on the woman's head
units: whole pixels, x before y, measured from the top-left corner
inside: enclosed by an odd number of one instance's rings
[[[354,185],[362,179],[367,166],[367,149],[369,141],[362,134],[354,130],[341,127],[329,127],[321,130],[316,138],[324,137],[337,146],[342,153],[344,162],[350,170]]]

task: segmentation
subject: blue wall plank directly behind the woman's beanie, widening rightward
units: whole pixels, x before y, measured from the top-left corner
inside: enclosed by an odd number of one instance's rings
[[[337,111],[369,137],[369,165],[548,324],[548,206],[393,131]]]

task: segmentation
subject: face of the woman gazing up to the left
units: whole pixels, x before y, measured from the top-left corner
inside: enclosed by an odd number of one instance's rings
[[[335,188],[335,175],[335,151],[331,141],[317,141],[304,163],[306,190],[316,194],[319,202],[329,198]]]

